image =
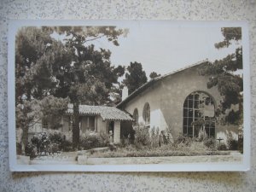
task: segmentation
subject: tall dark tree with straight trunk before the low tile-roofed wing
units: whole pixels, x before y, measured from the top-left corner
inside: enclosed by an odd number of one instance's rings
[[[55,96],[68,96],[73,103],[73,148],[79,148],[79,104],[109,104],[113,84],[118,84],[118,78],[125,73],[124,67],[111,66],[109,50],[96,50],[90,42],[105,37],[118,46],[118,38],[125,31],[115,26],[61,26],[44,30],[66,34],[64,44],[72,55],[71,62],[56,66]]]

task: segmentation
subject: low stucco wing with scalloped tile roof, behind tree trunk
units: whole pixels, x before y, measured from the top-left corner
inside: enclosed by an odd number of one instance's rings
[[[119,108],[107,106],[79,105],[79,129],[81,133],[85,131],[102,132],[112,134],[113,143],[119,143],[121,138],[121,124],[129,124],[133,121],[129,113],[125,113]],[[55,131],[60,131],[64,135],[71,135],[73,129],[73,104],[68,104],[67,113],[61,118],[61,127]],[[51,126],[42,120],[29,128],[30,141],[34,134],[48,132]]]

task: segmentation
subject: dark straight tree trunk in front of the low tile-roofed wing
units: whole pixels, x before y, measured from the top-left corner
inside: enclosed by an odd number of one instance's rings
[[[79,103],[73,103],[73,149],[79,148]]]

